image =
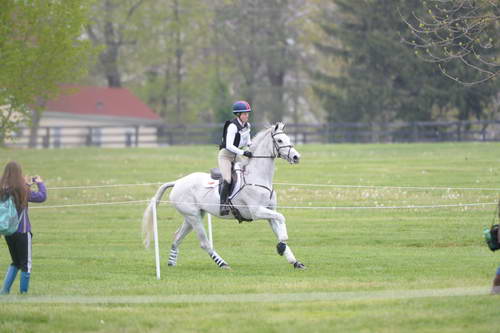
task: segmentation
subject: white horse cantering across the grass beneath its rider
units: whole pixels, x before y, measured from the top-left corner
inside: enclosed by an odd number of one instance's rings
[[[259,132],[254,137],[252,147],[250,147],[254,157],[249,159],[243,168],[240,168],[238,163],[236,164],[235,169],[240,173],[242,187],[239,187],[239,191],[236,190],[237,193],[233,192],[230,197],[233,209],[227,216],[219,214],[219,192],[217,186],[208,186],[210,183],[215,183],[208,173],[195,172],[160,186],[144,212],[142,227],[145,246],[149,246],[153,232],[153,205],[158,206],[163,193],[168,188],[173,187],[170,193],[170,202],[184,215],[184,223],[175,232],[168,260],[169,266],[177,264],[179,246],[184,237],[194,229],[201,248],[219,267],[230,268],[228,263],[210,246],[203,226],[203,216],[208,212],[223,219],[237,217],[240,222],[242,220],[267,220],[278,238],[278,254],[284,255],[295,268],[305,268],[301,262],[295,259],[292,250],[287,245],[288,234],[285,217],[276,211],[276,192],[272,189],[275,158],[283,158],[291,164],[297,164],[300,160],[300,154],[283,130],[284,126],[283,123],[277,123]],[[238,216],[238,212],[240,216]]]

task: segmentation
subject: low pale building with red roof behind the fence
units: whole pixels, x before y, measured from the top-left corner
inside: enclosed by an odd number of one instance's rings
[[[39,145],[155,146],[163,123],[143,101],[126,88],[65,86],[46,103],[39,123]],[[143,143],[143,144],[141,144]]]

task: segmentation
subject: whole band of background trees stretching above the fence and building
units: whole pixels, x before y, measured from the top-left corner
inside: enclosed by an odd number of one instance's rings
[[[221,122],[236,99],[269,122],[492,119],[499,11],[491,0],[5,0],[0,105],[43,109],[78,79],[127,87],[169,124]],[[38,89],[22,96],[23,85]]]

